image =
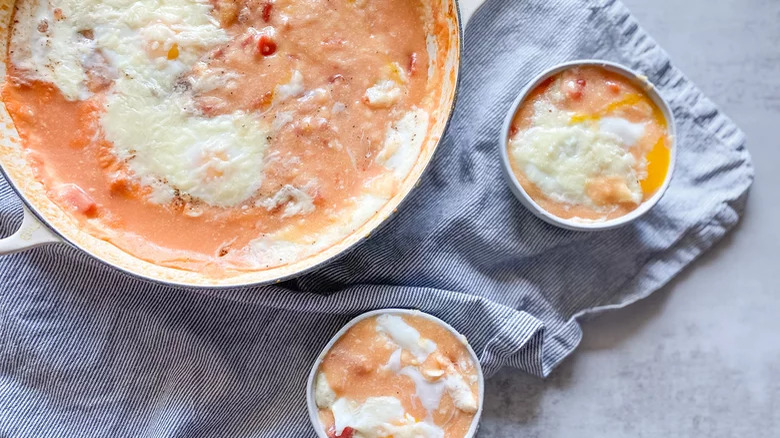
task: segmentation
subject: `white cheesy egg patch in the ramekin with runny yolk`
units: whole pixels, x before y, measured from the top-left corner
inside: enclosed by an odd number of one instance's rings
[[[588,122],[571,124],[573,115],[537,101],[531,128],[510,139],[511,159],[557,202],[603,209],[587,194],[589,183],[600,177],[624,181],[628,200],[641,202],[635,159],[624,141],[634,140],[637,128],[614,120],[605,129]]]

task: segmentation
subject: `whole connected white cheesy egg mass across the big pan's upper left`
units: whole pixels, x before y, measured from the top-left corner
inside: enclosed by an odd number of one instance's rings
[[[31,47],[46,50],[35,49],[20,63],[33,79],[52,82],[69,99],[83,99],[89,95],[85,54],[100,50],[117,72],[106,97],[103,133],[141,183],[153,187],[153,202],[168,202],[178,191],[227,207],[254,195],[262,183],[267,128],[243,112],[201,116],[192,94],[175,87],[210,48],[228,40],[211,17],[208,1],[50,0],[37,5],[46,11],[37,15],[53,17],[58,8],[64,18],[49,23],[51,36],[26,35]],[[91,30],[94,39],[82,36],[83,30]],[[168,59],[174,45],[178,56]],[[212,72],[196,75],[192,85],[210,89],[231,79]]]

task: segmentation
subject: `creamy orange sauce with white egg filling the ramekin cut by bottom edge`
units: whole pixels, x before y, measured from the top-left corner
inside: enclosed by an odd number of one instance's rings
[[[479,407],[477,372],[448,330],[382,314],[350,327],[330,349],[314,401],[328,436],[463,437]]]

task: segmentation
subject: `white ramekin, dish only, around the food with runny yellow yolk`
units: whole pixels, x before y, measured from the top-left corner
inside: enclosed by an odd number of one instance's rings
[[[531,196],[528,195],[528,193],[525,191],[523,186],[517,180],[517,177],[515,176],[514,172],[512,172],[512,166],[509,163],[509,153],[507,151],[509,145],[509,130],[512,125],[512,120],[514,119],[518,108],[520,108],[520,105],[522,105],[523,102],[525,102],[525,99],[528,97],[528,95],[533,90],[535,90],[536,87],[539,86],[539,84],[547,80],[549,77],[554,76],[564,70],[568,70],[572,67],[578,67],[578,66],[603,67],[641,86],[642,89],[647,93],[647,95],[653,101],[653,103],[655,103],[655,105],[658,106],[658,108],[663,113],[664,117],[666,118],[667,129],[669,131],[669,142],[670,142],[669,149],[670,149],[671,157],[669,160],[669,171],[666,174],[666,180],[664,181],[661,188],[659,188],[658,191],[650,199],[644,201],[639,207],[637,207],[635,210],[631,211],[630,213],[614,219],[605,220],[605,221],[564,219],[548,212],[547,210],[542,208],[539,204],[537,204],[536,201],[531,199]],[[666,192],[667,187],[669,187],[669,182],[672,180],[672,174],[674,173],[674,166],[677,157],[677,130],[674,121],[674,114],[672,113],[672,109],[670,108],[669,104],[666,102],[666,100],[664,100],[663,97],[661,97],[660,93],[658,93],[658,90],[656,90],[653,84],[651,84],[648,81],[647,77],[640,75],[634,72],[633,70],[624,67],[620,64],[616,64],[614,62],[608,62],[608,61],[593,60],[593,59],[571,61],[571,62],[566,62],[563,64],[556,65],[555,67],[546,70],[544,73],[540,74],[539,76],[534,78],[531,82],[529,82],[528,85],[520,93],[520,95],[517,96],[515,102],[512,104],[512,107],[510,108],[509,113],[507,114],[506,119],[504,120],[504,125],[502,127],[500,138],[501,140],[499,144],[499,152],[502,161],[501,167],[503,169],[504,176],[506,177],[506,180],[509,183],[509,187],[512,189],[512,192],[515,194],[517,199],[526,208],[528,208],[533,214],[535,214],[539,219],[542,219],[543,221],[549,224],[561,228],[565,228],[568,230],[574,230],[574,231],[610,230],[613,228],[620,227],[622,225],[626,225],[630,222],[633,222],[634,220],[638,219],[639,217],[647,213],[651,208],[653,208],[653,206],[655,206],[658,203],[658,201]]]

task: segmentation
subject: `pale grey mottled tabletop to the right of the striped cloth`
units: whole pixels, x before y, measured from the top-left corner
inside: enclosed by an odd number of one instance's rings
[[[549,379],[491,379],[479,436],[780,437],[780,0],[624,2],[747,133],[747,214],[664,290],[586,321]]]

